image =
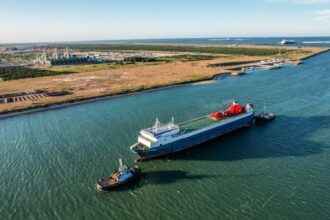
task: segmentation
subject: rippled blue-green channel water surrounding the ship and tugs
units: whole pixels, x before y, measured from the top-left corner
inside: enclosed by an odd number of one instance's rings
[[[131,163],[128,147],[158,116],[184,121],[231,100],[275,121],[142,164],[129,189],[95,181]],[[1,219],[328,219],[330,53],[301,66],[227,77],[0,120]]]

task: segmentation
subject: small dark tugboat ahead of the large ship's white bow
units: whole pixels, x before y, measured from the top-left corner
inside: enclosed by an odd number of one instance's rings
[[[119,159],[119,168],[110,174],[107,179],[100,179],[96,183],[96,188],[100,191],[111,191],[136,180],[141,174],[141,168],[137,165],[127,167]]]

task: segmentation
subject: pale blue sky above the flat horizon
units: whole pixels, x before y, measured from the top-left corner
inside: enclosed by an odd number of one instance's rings
[[[330,0],[0,0],[0,43],[330,36]]]

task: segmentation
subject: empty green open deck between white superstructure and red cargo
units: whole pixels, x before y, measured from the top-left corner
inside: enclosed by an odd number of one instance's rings
[[[207,126],[219,123],[220,121],[226,120],[226,118],[222,120],[213,120],[209,118],[208,116],[203,116],[200,118],[193,119],[191,121],[183,122],[179,124],[180,130],[183,133],[190,133],[193,131],[196,131],[201,128],[205,128]]]

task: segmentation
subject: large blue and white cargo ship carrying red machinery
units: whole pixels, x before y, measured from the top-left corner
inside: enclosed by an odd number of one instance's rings
[[[173,154],[248,126],[253,118],[252,104],[241,106],[233,102],[223,111],[180,124],[175,124],[173,118],[168,124],[156,119],[153,127],[140,131],[137,143],[130,149],[140,156],[139,160]]]

